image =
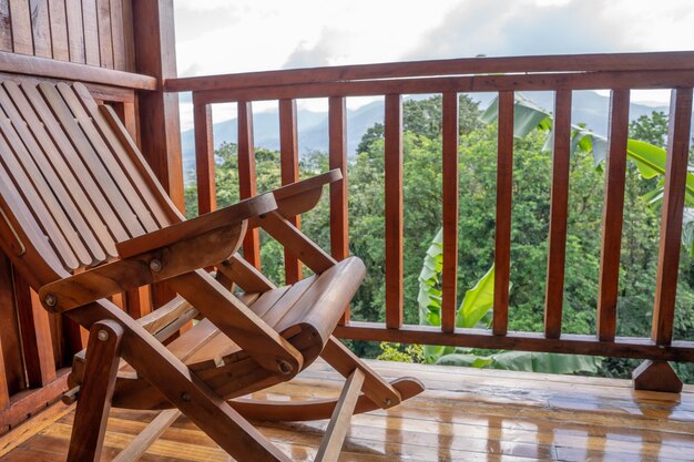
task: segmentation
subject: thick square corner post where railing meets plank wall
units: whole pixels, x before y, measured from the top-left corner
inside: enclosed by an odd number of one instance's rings
[[[177,76],[173,0],[130,1],[135,70],[156,78],[161,89],[164,79]],[[162,90],[139,92],[137,109],[140,120],[146,121],[140,124],[142,152],[173,203],[184,213],[178,93],[165,93]],[[153,286],[155,307],[173,296],[166,286]]]

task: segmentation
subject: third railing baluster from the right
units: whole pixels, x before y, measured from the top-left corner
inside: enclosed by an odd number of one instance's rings
[[[569,207],[569,154],[571,150],[571,91],[560,90],[554,100],[554,146],[552,150],[552,192],[544,298],[544,336],[561,336],[567,257],[567,215]]]

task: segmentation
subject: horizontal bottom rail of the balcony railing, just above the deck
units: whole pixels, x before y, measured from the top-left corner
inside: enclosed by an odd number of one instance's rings
[[[399,343],[694,361],[694,342],[692,341],[673,341],[669,346],[657,346],[651,339],[640,337],[618,337],[614,341],[596,341],[591,335],[564,333],[561,339],[548,339],[544,333],[538,332],[509,332],[507,336],[494,336],[493,332],[484,329],[457,328],[448,333],[431,326],[405,325],[400,329],[389,329],[381,322],[360,321],[351,321],[349,326],[338,326],[335,329],[335,336],[343,339]]]

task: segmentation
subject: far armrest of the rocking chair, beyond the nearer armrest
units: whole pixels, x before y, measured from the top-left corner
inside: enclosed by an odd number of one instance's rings
[[[293,217],[308,212],[318,204],[323,194],[323,186],[343,179],[343,173],[331,170],[320,175],[293,183],[273,191],[277,202],[277,211],[284,217]]]

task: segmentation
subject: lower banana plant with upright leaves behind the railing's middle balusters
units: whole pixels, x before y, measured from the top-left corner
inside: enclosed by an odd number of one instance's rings
[[[419,324],[441,325],[441,285],[443,268],[443,230],[440,229],[427,249],[419,274]],[[510,287],[509,287],[510,289]],[[494,266],[477,284],[466,291],[456,312],[456,327],[488,327],[494,299]],[[501,351],[479,356],[470,348],[425,346],[427,363],[467,366],[474,368],[509,369],[549,373],[595,373],[602,362],[600,358],[580,355],[538,353],[525,351]]]

